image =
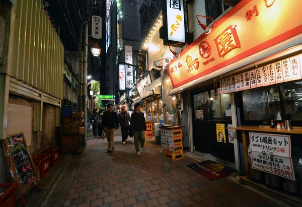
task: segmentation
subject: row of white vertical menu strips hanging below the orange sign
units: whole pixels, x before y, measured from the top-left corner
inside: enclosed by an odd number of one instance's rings
[[[220,80],[219,93],[231,93],[302,78],[302,54]],[[233,82],[234,80],[234,82]],[[227,85],[227,87],[226,87]],[[235,87],[235,89],[233,88]]]

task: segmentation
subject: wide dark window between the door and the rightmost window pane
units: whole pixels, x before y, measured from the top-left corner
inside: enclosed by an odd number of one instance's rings
[[[281,120],[277,85],[243,91],[242,99],[244,120]]]

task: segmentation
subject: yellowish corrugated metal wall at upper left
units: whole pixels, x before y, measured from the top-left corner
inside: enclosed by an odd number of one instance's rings
[[[18,0],[14,35],[8,75],[62,100],[64,47],[39,0]]]

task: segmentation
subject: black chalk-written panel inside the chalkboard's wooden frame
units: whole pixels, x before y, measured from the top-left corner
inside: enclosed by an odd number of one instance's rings
[[[21,133],[7,137],[9,150],[22,188],[35,179],[33,166],[29,159],[30,155],[27,151],[24,139]]]

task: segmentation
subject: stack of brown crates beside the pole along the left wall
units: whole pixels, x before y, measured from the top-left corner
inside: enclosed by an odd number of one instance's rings
[[[77,152],[81,144],[81,134],[85,133],[82,127],[84,120],[84,112],[74,111],[71,117],[63,118],[63,128],[61,129],[61,152],[74,153]]]

